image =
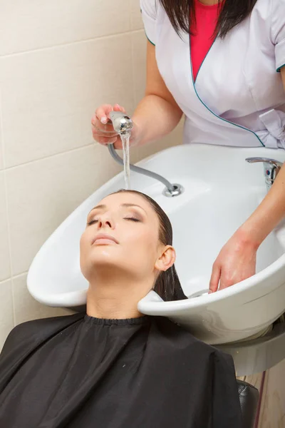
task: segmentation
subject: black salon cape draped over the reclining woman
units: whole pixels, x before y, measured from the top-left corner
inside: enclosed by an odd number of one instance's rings
[[[163,317],[29,321],[0,357],[1,428],[241,428],[232,357]]]

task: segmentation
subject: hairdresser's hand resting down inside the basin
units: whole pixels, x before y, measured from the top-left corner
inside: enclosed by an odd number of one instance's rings
[[[238,229],[220,251],[212,267],[209,292],[216,292],[255,274],[258,246]]]

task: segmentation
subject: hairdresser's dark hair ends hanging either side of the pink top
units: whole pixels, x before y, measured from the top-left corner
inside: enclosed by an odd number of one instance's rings
[[[192,34],[190,21],[195,21],[195,0],[158,0],[177,32]],[[278,0],[276,0],[278,1]],[[222,39],[251,14],[257,0],[219,0],[220,13],[214,36]]]

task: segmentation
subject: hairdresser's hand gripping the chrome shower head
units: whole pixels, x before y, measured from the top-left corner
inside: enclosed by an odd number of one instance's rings
[[[114,143],[115,148],[121,149],[122,141],[120,140],[120,136],[115,132],[112,123],[107,124],[111,111],[123,111],[125,113],[125,108],[118,104],[115,104],[115,106],[103,104],[103,106],[98,107],[91,120],[93,138],[98,143],[103,144],[103,146]],[[138,126],[135,123],[133,125],[130,135],[130,146],[135,146],[140,140]]]

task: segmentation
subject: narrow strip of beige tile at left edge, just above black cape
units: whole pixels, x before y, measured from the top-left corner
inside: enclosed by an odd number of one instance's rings
[[[14,327],[11,280],[0,282],[0,351]]]

